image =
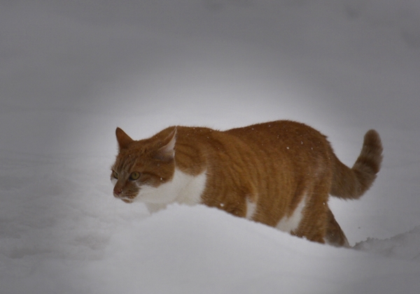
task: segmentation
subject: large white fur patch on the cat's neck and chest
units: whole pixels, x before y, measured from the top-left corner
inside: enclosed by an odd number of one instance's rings
[[[158,187],[141,186],[139,195],[134,201],[146,203],[148,210],[151,212],[160,210],[169,203],[199,204],[206,186],[206,180],[206,172],[193,176],[176,168],[171,182],[161,184]]]

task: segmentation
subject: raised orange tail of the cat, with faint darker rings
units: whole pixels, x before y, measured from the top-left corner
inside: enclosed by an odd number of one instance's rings
[[[377,131],[365,134],[363,147],[352,168],[335,158],[331,196],[342,199],[358,199],[372,186],[382,162],[382,143]]]

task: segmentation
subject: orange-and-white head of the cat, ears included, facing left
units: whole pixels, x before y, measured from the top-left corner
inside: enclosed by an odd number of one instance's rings
[[[113,196],[125,203],[159,202],[159,199],[149,199],[156,197],[150,191],[170,182],[174,176],[176,127],[139,141],[117,128],[116,137],[119,152],[111,168]]]

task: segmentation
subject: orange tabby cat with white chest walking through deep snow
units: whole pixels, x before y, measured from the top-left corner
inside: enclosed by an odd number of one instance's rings
[[[132,140],[116,129],[113,195],[150,212],[169,203],[218,207],[292,235],[349,247],[328,207],[329,195],[358,199],[382,161],[379,134],[365,134],[352,168],[314,128],[288,120],[228,131],[171,126]]]

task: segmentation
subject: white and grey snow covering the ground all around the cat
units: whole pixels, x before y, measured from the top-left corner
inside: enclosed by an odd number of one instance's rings
[[[420,2],[0,3],[1,293],[419,293]],[[353,249],[208,207],[150,215],[112,196],[116,126],[274,119],[356,160],[374,186],[330,206]]]

